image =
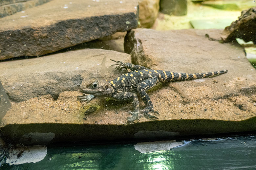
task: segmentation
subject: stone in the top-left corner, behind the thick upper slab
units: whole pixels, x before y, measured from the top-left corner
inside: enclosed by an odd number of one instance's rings
[[[42,5],[52,0],[2,0],[0,2],[0,18],[12,15],[16,12],[23,11]]]

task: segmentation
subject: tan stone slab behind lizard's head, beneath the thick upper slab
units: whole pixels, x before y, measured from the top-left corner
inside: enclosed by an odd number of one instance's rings
[[[57,99],[63,91],[77,90],[84,77],[110,75],[110,59],[129,58],[111,50],[82,49],[44,57],[0,62],[0,80],[12,101],[50,94]]]

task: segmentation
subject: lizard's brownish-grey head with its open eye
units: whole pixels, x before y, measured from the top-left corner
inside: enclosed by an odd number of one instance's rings
[[[97,97],[111,97],[115,92],[113,87],[104,79],[84,79],[79,91],[85,94],[92,94]]]

